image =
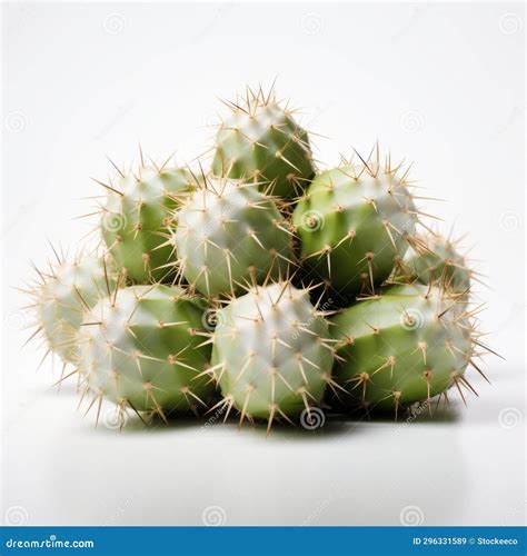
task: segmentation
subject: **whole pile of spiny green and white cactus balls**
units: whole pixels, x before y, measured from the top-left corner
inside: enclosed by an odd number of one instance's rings
[[[145,161],[96,180],[93,251],[29,287],[36,330],[80,404],[145,423],[217,413],[296,424],[465,401],[488,347],[477,275],[376,143],[317,168],[274,91],[225,103],[199,171]]]

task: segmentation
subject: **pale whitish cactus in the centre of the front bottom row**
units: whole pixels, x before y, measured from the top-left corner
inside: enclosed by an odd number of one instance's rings
[[[275,418],[290,421],[318,404],[331,379],[334,348],[327,322],[307,290],[290,282],[249,288],[217,315],[212,367],[223,399],[240,411],[240,425]]]

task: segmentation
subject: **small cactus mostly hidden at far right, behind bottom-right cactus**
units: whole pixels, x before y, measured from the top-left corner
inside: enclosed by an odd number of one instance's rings
[[[394,281],[439,282],[443,288],[468,301],[474,270],[457,251],[457,241],[439,234],[418,236],[402,260],[396,262]]]

